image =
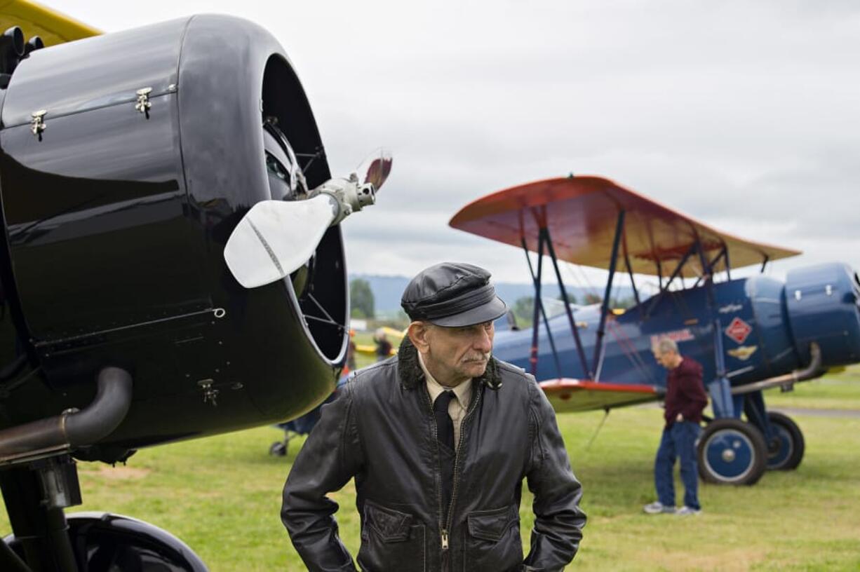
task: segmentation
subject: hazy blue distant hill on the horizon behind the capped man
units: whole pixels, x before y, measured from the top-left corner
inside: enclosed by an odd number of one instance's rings
[[[376,306],[378,317],[384,317],[396,313],[400,309],[400,296],[403,294],[403,289],[406,288],[410,278],[405,276],[377,276],[373,274],[350,274],[349,280],[361,278],[366,280],[371,285],[373,291],[373,300]],[[512,306],[514,301],[517,301],[523,296],[533,296],[534,287],[531,284],[518,283],[494,283],[496,294],[502,300],[507,302],[508,306]],[[603,284],[601,284],[601,287]],[[568,286],[568,293],[576,296],[577,301],[582,303],[587,294],[593,290],[583,288],[581,286]],[[617,293],[616,293],[617,291]],[[556,298],[561,294],[561,290],[555,283],[544,284],[542,295],[545,297]],[[598,295],[603,295],[599,292]],[[633,296],[633,290],[628,286],[621,286],[612,289],[612,295],[619,298],[628,298]]]

